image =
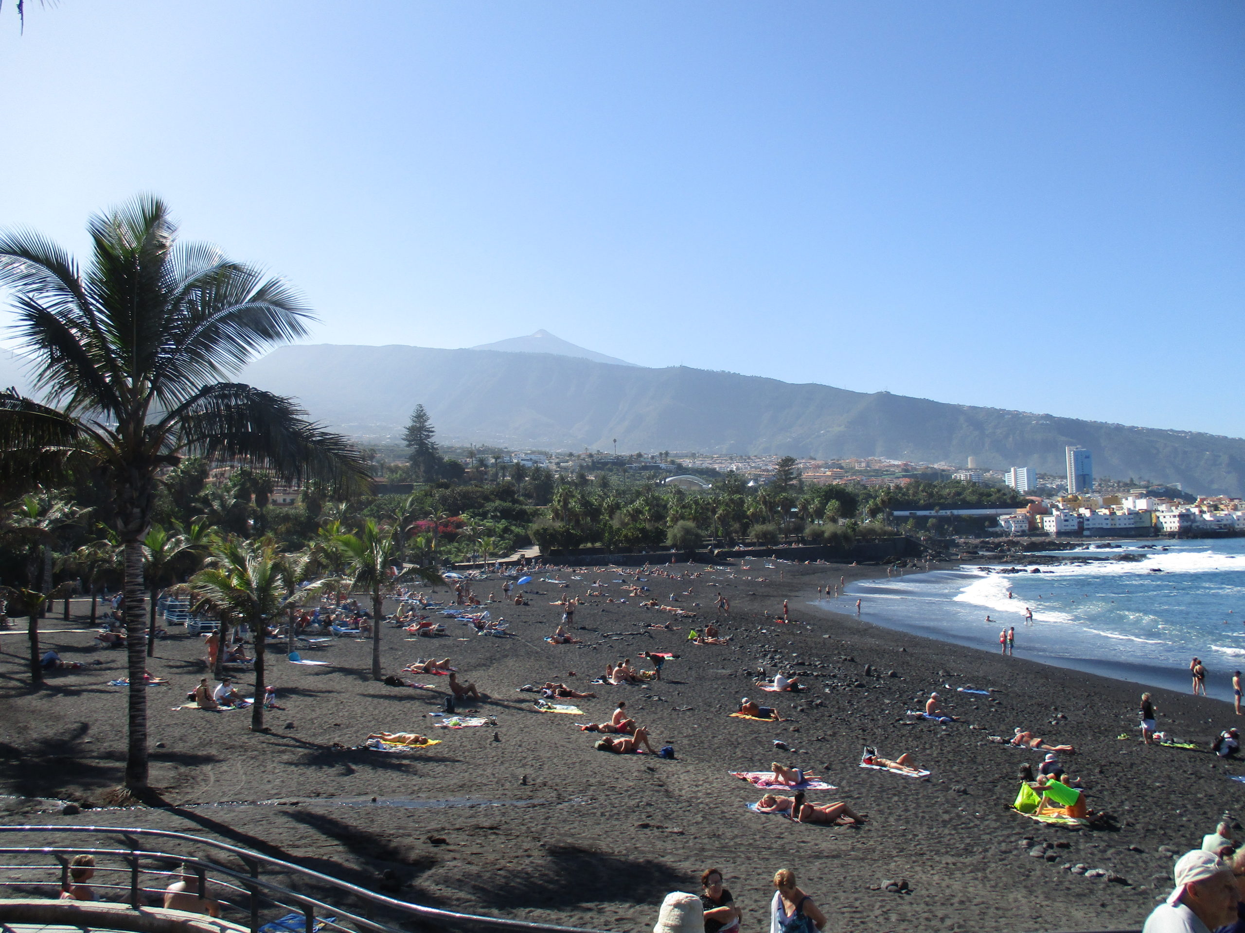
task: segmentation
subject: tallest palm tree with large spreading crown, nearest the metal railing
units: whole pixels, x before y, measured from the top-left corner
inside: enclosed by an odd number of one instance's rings
[[[0,470],[19,478],[93,469],[111,485],[125,550],[129,661],[126,786],[147,786],[142,540],[157,475],[181,457],[243,458],[285,481],[361,488],[346,440],[290,399],[224,382],[265,347],[306,333],[310,313],[278,279],[178,244],[154,198],[91,219],[90,266],[46,238],[0,235],[0,286],[46,403],[0,392]]]

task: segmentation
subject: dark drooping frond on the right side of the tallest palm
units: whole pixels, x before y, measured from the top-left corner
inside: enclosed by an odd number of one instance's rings
[[[366,462],[346,438],[306,420],[289,398],[251,386],[205,386],[154,429],[171,430],[177,450],[247,457],[289,481],[321,479],[350,493],[370,481]]]

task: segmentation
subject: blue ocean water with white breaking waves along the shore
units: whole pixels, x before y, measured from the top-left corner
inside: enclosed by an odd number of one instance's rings
[[[998,651],[998,632],[1015,626],[1017,657],[1177,690],[1190,689],[1196,656],[1209,672],[1208,693],[1230,700],[1233,672],[1245,671],[1245,539],[1144,544],[1154,550],[1088,545],[1064,552],[1129,552],[1140,561],[1008,575],[964,565],[853,583],[819,605],[854,612],[862,600],[869,622],[985,651]]]

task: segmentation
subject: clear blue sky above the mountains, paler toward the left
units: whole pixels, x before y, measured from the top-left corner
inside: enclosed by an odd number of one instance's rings
[[[312,342],[1245,435],[1236,0],[26,7],[0,224],[157,193]]]

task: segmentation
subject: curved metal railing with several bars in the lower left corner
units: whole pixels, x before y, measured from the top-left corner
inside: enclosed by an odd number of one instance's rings
[[[398,921],[421,921],[433,923],[437,927],[466,927],[471,929],[498,929],[498,931],[527,931],[528,933],[601,933],[601,931],[585,929],[580,927],[560,927],[552,923],[528,923],[524,921],[509,921],[500,917],[482,917],[471,913],[458,913],[456,911],[442,911],[436,907],[423,907],[406,901],[398,901],[375,891],[361,888],[347,881],[322,875],[321,872],[304,868],[290,862],[273,858],[259,852],[253,852],[227,842],[192,836],[186,832],[172,832],[169,830],[141,830],[116,826],[0,826],[0,833],[34,833],[39,836],[65,836],[68,833],[82,833],[95,836],[121,837],[128,848],[101,848],[93,846],[0,846],[0,855],[24,856],[50,856],[56,860],[55,865],[0,865],[0,872],[29,872],[29,871],[57,871],[60,880],[52,882],[12,882],[0,878],[0,884],[7,887],[55,887],[63,891],[70,884],[70,857],[76,855],[91,855],[116,858],[126,865],[125,868],[112,868],[96,866],[96,872],[116,872],[127,876],[127,884],[96,884],[93,887],[111,888],[126,892],[126,903],[132,908],[147,906],[147,898],[152,896],[163,897],[164,888],[149,888],[142,883],[143,876],[186,878],[193,875],[197,882],[197,896],[200,901],[207,901],[208,873],[212,873],[210,882],[217,888],[230,892],[217,901],[223,909],[245,914],[245,926],[250,933],[259,933],[261,912],[264,904],[281,908],[283,913],[300,913],[304,918],[304,933],[314,933],[320,927],[331,927],[342,933],[410,933],[408,928],[398,927],[396,923],[386,923],[374,919],[375,909],[396,914]],[[193,846],[194,848],[213,848],[237,858],[244,866],[244,871],[229,868],[218,862],[199,858],[193,855],[179,852],[166,852],[139,847],[138,838],[163,838],[174,840],[178,843]],[[148,867],[143,867],[147,863]],[[184,866],[187,871],[167,871],[156,866],[168,866],[176,863]],[[364,913],[349,909],[341,903],[329,903],[319,897],[301,893],[284,884],[268,881],[260,877],[260,870],[268,868],[283,875],[294,876],[309,884],[331,888],[341,894],[349,894],[364,902]],[[189,892],[187,892],[189,893]],[[234,898],[237,896],[237,902]],[[275,919],[275,918],[274,918]],[[351,927],[342,926],[350,923]]]

